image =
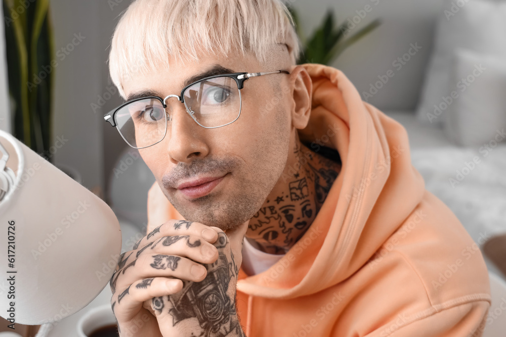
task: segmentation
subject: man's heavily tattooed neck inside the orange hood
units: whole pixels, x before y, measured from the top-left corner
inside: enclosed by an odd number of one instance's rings
[[[341,165],[312,152],[296,132],[286,167],[264,204],[249,221],[248,241],[271,254],[285,254],[309,229]]]

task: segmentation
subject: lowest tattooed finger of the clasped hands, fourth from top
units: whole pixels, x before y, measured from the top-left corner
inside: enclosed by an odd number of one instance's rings
[[[118,319],[129,316],[145,301],[159,296],[172,295],[181,291],[183,282],[180,279],[166,277],[148,277],[130,284],[115,298],[114,313]]]

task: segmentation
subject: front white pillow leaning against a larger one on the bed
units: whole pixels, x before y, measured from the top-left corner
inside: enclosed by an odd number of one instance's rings
[[[495,148],[506,138],[506,56],[457,49],[452,60],[450,83],[457,88],[450,92],[445,134],[460,146]]]

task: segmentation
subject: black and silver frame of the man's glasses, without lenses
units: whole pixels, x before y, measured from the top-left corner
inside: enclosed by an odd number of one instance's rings
[[[109,111],[108,113],[106,113],[104,115],[104,120],[106,122],[109,122],[111,124],[111,126],[113,127],[116,127],[119,131],[119,134],[121,135],[121,137],[123,138],[123,140],[128,143],[129,146],[131,146],[132,148],[134,149],[144,149],[144,148],[148,148],[148,147],[151,147],[157,143],[159,143],[160,141],[163,140],[163,138],[165,138],[165,135],[167,133],[167,120],[169,120],[170,116],[168,116],[168,114],[165,112],[167,118],[165,119],[165,131],[164,131],[164,134],[163,134],[163,137],[158,140],[157,142],[149,145],[149,146],[146,146],[146,147],[142,147],[142,148],[138,148],[138,147],[135,147],[133,146],[128,140],[125,139],[125,137],[123,136],[123,134],[121,133],[119,127],[118,127],[118,123],[116,122],[116,113],[121,110],[123,107],[131,104],[131,103],[134,103],[134,102],[137,102],[137,101],[140,101],[140,100],[146,100],[146,99],[156,99],[158,101],[160,101],[160,103],[162,104],[163,108],[166,109],[167,108],[167,105],[165,104],[165,101],[169,98],[172,98],[172,97],[175,97],[178,99],[178,101],[180,101],[181,103],[183,103],[185,105],[185,108],[186,108],[186,112],[192,117],[192,119],[198,124],[200,125],[201,127],[203,128],[206,128],[206,129],[214,129],[214,128],[217,128],[217,127],[222,127],[222,126],[225,126],[225,125],[228,125],[228,124],[231,124],[233,122],[235,122],[240,114],[241,114],[241,105],[242,105],[242,100],[241,100],[241,89],[243,88],[244,86],[244,81],[247,80],[248,78],[250,77],[257,77],[257,76],[263,76],[263,75],[269,75],[269,74],[278,74],[278,73],[284,73],[284,74],[289,74],[288,71],[286,70],[277,70],[277,71],[271,71],[271,72],[261,72],[261,73],[247,73],[247,72],[242,72],[242,73],[232,73],[232,74],[220,74],[220,75],[213,75],[213,76],[208,76],[208,77],[205,77],[205,78],[202,78],[198,81],[195,81],[193,83],[190,83],[188,84],[187,86],[185,86],[182,90],[181,90],[181,95],[178,96],[178,95],[175,95],[175,94],[172,94],[172,95],[168,95],[167,97],[165,97],[164,99],[162,99],[161,97],[158,97],[158,96],[146,96],[146,97],[141,97],[141,98],[138,98],[138,99],[135,99],[135,100],[132,100],[132,101],[128,101],[128,102],[125,102],[124,104],[120,105],[119,107]],[[220,125],[220,126],[203,126],[202,124],[200,124],[196,119],[195,117],[193,116],[193,111],[191,111],[191,109],[186,105],[185,101],[184,101],[184,93],[186,91],[186,89],[188,89],[189,87],[195,85],[196,83],[199,83],[199,82],[202,82],[202,81],[205,81],[205,80],[208,80],[208,79],[212,79],[212,78],[218,78],[218,77],[230,77],[232,79],[235,80],[235,82],[237,83],[237,88],[239,89],[239,114],[237,115],[237,117],[231,121],[230,123],[227,123],[227,124],[224,124],[224,125]]]

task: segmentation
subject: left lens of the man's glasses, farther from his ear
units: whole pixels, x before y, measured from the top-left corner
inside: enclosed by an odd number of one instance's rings
[[[145,148],[163,139],[167,129],[160,100],[142,99],[122,107],[115,115],[119,133],[134,148]]]

